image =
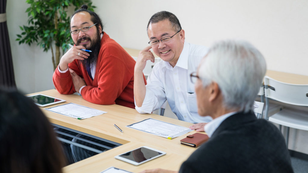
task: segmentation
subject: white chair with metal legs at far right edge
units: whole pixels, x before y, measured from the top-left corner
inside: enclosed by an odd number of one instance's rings
[[[276,81],[268,76],[264,78],[265,85],[265,118],[268,115],[268,100],[274,99],[282,103],[298,106],[308,106],[308,85],[296,85]],[[283,108],[268,119],[270,122],[287,127],[286,145],[288,146],[290,127],[308,131],[308,111]]]

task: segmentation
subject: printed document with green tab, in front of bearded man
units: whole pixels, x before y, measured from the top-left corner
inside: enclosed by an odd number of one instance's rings
[[[101,115],[107,112],[81,106],[75,103],[68,103],[56,107],[46,108],[45,110],[69,116],[76,119],[86,119],[93,116]]]

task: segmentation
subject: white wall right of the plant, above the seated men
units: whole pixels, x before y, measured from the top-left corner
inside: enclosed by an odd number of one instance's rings
[[[308,1],[306,0],[93,0],[107,34],[122,46],[147,46],[152,14],[168,10],[180,20],[186,41],[210,46],[246,39],[265,56],[268,69],[308,75]]]

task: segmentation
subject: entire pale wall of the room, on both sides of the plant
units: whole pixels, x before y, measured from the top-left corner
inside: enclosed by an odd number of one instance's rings
[[[265,56],[269,70],[308,75],[307,0],[92,0],[104,31],[123,47],[148,46],[146,26],[156,12],[174,13],[185,39],[210,46],[227,38],[245,39]],[[6,13],[17,86],[25,93],[53,89],[51,53],[18,45],[16,34],[27,23],[25,1],[9,0]],[[307,131],[305,131],[307,132]],[[302,134],[302,132],[300,133]],[[300,135],[307,137],[308,134]],[[296,139],[297,140],[297,139]],[[308,154],[306,142],[292,147]]]

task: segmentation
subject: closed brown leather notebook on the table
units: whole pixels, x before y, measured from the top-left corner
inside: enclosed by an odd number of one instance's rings
[[[193,135],[188,135],[186,138],[181,139],[181,144],[188,145],[190,147],[198,147],[202,143],[205,143],[209,139],[208,135],[202,133],[195,133]]]

